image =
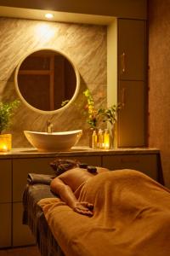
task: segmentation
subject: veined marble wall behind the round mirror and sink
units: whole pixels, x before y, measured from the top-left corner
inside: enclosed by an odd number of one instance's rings
[[[45,131],[52,117],[54,131],[83,129],[81,144],[88,143],[88,125],[82,115],[85,98],[92,91],[96,105],[106,104],[106,26],[0,18],[0,101],[14,100],[14,68],[24,55],[43,47],[62,50],[77,66],[81,90],[71,108],[52,116],[40,114],[23,103],[14,116],[13,147],[30,146],[23,130]]]

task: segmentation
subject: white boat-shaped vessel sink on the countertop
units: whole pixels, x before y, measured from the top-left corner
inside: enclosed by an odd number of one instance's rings
[[[39,132],[24,131],[24,134],[34,148],[40,152],[66,151],[75,146],[82,136],[82,130]]]

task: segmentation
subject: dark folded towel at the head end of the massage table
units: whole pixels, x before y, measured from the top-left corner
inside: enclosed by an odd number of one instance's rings
[[[28,173],[27,183],[31,185],[37,184],[37,183],[49,185],[53,178],[54,178],[54,175]]]

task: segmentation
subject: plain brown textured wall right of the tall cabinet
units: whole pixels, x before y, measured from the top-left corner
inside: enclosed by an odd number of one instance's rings
[[[170,188],[170,1],[149,1],[149,143],[161,149]]]

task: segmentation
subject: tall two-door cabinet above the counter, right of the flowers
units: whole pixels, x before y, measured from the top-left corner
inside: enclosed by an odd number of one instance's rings
[[[118,19],[118,147],[146,146],[147,83],[145,20]]]

